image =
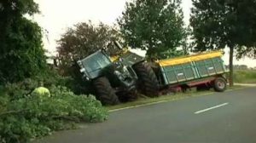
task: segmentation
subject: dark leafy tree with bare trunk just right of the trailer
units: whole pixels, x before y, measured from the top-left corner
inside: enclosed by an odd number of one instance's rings
[[[233,85],[233,55],[255,57],[256,1],[192,0],[190,25],[195,51],[230,48],[230,86]]]

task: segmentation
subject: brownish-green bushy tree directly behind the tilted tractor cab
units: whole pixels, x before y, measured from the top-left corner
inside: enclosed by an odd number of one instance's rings
[[[119,40],[119,32],[114,27],[104,25],[93,25],[89,22],[82,22],[73,28],[68,28],[58,40],[58,58],[60,59],[60,69],[63,75],[73,74],[73,63],[96,52],[96,50],[106,48],[109,42]],[[117,49],[109,46],[109,54],[114,54]],[[71,70],[71,71],[70,71]]]

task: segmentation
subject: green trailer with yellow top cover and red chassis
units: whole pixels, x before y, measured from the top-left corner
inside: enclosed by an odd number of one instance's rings
[[[160,87],[163,89],[182,89],[191,87],[197,89],[215,89],[222,92],[226,89],[225,73],[228,70],[221,59],[223,53],[195,54],[168,60],[159,60],[154,63]]]

